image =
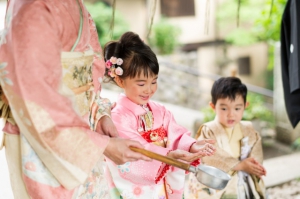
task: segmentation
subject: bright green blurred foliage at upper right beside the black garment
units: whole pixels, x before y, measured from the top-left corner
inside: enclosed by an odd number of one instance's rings
[[[274,43],[280,40],[281,18],[286,2],[287,0],[226,0],[220,5],[221,9],[218,9],[217,14],[219,29],[228,33],[225,41],[229,44],[251,45],[260,41],[268,44],[266,83],[269,89],[273,89]],[[237,5],[240,5],[239,14]],[[236,20],[239,20],[238,27]]]

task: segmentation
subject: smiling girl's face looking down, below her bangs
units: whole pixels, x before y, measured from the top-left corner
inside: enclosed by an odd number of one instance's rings
[[[134,103],[147,104],[150,98],[157,90],[157,75],[145,77],[141,74],[139,77],[126,78],[121,81],[121,87],[125,95]]]

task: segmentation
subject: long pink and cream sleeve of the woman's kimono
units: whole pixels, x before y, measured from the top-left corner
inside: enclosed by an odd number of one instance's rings
[[[1,46],[0,61],[7,60],[1,64],[1,86],[21,135],[71,189],[85,181],[109,138],[90,131],[64,90],[60,57],[67,40],[62,35],[73,22],[63,24],[59,12],[44,1],[29,2],[18,12]]]

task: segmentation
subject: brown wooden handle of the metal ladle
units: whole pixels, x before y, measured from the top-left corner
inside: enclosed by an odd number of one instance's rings
[[[146,149],[136,148],[136,147],[132,147],[132,146],[130,147],[130,149],[135,151],[135,152],[141,153],[141,154],[143,154],[143,155],[145,155],[149,158],[158,160],[160,162],[164,162],[168,165],[172,165],[174,167],[178,167],[178,168],[184,169],[186,171],[190,171],[190,165],[189,164],[180,162],[180,161],[175,160],[173,158],[169,158],[167,156],[163,156],[163,155],[160,155],[158,153],[148,151]]]

